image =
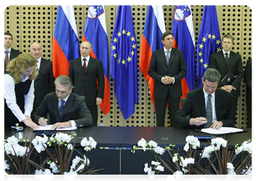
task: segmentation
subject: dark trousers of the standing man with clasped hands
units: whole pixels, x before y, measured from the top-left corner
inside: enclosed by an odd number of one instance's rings
[[[166,98],[155,98],[157,127],[165,127],[165,110],[166,110],[167,100],[169,104],[169,118],[171,120],[171,127],[176,127],[176,125],[174,125],[173,120],[177,111],[180,109],[180,97],[172,98],[169,92]]]

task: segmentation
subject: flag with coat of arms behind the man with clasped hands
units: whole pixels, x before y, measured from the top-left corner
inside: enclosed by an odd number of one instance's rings
[[[187,74],[182,79],[182,94],[195,89],[195,34],[190,5],[176,5],[172,22],[174,45],[183,51]],[[182,98],[183,98],[182,97]]]

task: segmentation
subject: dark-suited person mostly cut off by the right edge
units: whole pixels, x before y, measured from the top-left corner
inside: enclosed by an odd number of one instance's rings
[[[254,58],[247,61],[244,78],[246,83],[247,125],[249,128],[254,128],[254,122],[252,121],[252,115],[254,115]]]

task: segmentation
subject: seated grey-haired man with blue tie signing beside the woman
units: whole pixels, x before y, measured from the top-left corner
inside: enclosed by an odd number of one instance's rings
[[[93,118],[85,104],[85,97],[72,93],[71,78],[61,75],[54,81],[56,92],[47,94],[33,115],[33,121],[39,125],[47,125],[44,115],[48,112],[52,129],[93,125]]]

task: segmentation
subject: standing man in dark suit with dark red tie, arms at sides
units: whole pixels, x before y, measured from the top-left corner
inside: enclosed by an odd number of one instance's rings
[[[81,56],[71,60],[68,76],[74,82],[73,92],[85,96],[87,107],[93,116],[93,125],[97,125],[97,105],[102,103],[105,86],[103,66],[100,60],[90,57],[90,42],[82,42],[79,49]]]

